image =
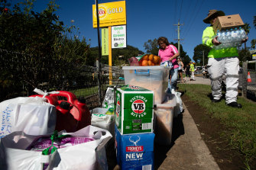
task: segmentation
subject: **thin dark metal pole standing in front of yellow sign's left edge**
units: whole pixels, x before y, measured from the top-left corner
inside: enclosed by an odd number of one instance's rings
[[[97,16],[97,30],[98,30],[98,46],[99,46],[99,67],[98,67],[98,92],[99,92],[99,105],[102,104],[102,66],[101,66],[101,61],[102,61],[102,50],[100,46],[100,36],[99,36],[99,5],[98,5],[98,0],[96,0],[96,16]]]

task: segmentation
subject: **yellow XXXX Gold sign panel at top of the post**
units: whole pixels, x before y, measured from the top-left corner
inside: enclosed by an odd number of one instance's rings
[[[99,4],[99,27],[126,24],[125,1]],[[92,26],[97,27],[96,5],[92,5]]]

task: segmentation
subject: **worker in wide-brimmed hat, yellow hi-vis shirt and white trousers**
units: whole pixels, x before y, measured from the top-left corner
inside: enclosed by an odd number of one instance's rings
[[[241,104],[237,102],[238,96],[238,69],[239,69],[239,59],[238,50],[236,47],[228,49],[216,50],[213,47],[219,46],[221,44],[218,41],[218,37],[215,36],[212,25],[215,23],[219,16],[224,16],[223,11],[209,10],[208,16],[203,20],[204,23],[210,24],[203,30],[202,41],[212,49],[208,53],[208,72],[211,79],[212,85],[212,102],[219,102],[222,100],[222,75],[226,76],[226,93],[225,93],[225,103],[231,107],[241,108]],[[245,43],[242,40],[241,43]]]

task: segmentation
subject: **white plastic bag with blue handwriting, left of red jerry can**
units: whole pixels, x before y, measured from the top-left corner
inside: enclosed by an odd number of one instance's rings
[[[53,133],[56,108],[45,98],[19,97],[0,103],[0,139],[11,132],[24,131],[28,135]]]

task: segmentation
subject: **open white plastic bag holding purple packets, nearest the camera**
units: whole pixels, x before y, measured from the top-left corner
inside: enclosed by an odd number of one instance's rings
[[[0,169],[42,169],[43,163],[49,164],[47,170],[108,168],[104,147],[112,137],[108,130],[88,126],[75,133],[63,133],[63,135],[66,134],[89,136],[95,140],[60,148],[48,156],[43,156],[42,152],[25,150],[41,136],[29,136],[22,132],[14,132],[1,140]]]

